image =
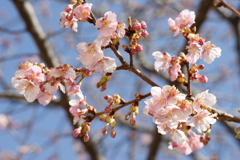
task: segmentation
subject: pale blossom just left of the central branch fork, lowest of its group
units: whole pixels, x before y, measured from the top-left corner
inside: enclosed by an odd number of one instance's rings
[[[117,65],[115,63],[115,59],[111,57],[103,57],[97,63],[89,66],[90,70],[94,70],[97,73],[102,73],[103,71],[112,73],[116,68]]]

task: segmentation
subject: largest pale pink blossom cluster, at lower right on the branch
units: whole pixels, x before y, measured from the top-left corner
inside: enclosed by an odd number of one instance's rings
[[[206,142],[205,135],[197,135],[191,128],[195,127],[199,133],[207,132],[216,122],[204,107],[211,107],[216,103],[216,97],[208,90],[196,95],[195,99],[187,100],[175,86],[152,87],[152,98],[145,101],[144,114],[153,116],[160,134],[170,133],[170,148],[185,154],[202,148]],[[193,115],[193,116],[192,116]],[[192,118],[190,118],[192,116]]]

